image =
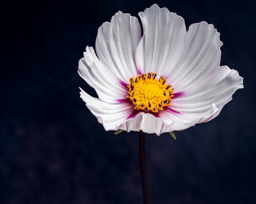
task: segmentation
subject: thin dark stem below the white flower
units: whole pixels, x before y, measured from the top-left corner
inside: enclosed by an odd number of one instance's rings
[[[146,173],[146,157],[145,157],[145,133],[140,130],[139,132],[139,148],[140,148],[140,174],[141,186],[143,193],[144,204],[150,204],[149,193],[147,187],[147,173]]]

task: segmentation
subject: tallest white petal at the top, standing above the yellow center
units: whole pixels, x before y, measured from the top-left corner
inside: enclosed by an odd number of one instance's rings
[[[136,49],[137,68],[159,76],[175,67],[182,53],[186,26],[184,19],[157,4],[139,13],[143,37]]]

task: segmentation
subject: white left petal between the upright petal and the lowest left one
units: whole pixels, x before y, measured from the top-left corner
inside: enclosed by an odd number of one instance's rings
[[[99,61],[92,47],[86,47],[84,57],[79,61],[78,72],[96,90],[102,101],[119,103],[117,99],[126,98],[126,87]]]

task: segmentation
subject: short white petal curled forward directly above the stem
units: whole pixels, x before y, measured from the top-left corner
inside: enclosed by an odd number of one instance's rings
[[[138,113],[134,118],[128,119],[117,126],[117,128],[127,132],[142,130],[145,133],[155,133],[158,136],[161,133],[173,131],[171,126],[165,124],[161,118],[157,118],[150,113],[144,112]]]

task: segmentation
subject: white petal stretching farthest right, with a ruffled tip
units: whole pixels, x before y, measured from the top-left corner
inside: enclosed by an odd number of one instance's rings
[[[219,114],[239,88],[243,88],[243,78],[236,70],[222,66],[208,74],[200,83],[186,90],[183,96],[177,98],[174,96],[171,109],[188,114],[189,118],[197,118],[198,115],[209,111],[214,103],[219,109],[218,113],[198,121],[198,123],[207,122]]]

